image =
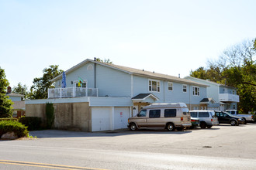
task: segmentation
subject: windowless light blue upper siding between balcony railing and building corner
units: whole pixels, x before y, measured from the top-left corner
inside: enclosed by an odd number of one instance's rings
[[[96,87],[99,96],[131,97],[131,75],[119,70],[96,65]]]

